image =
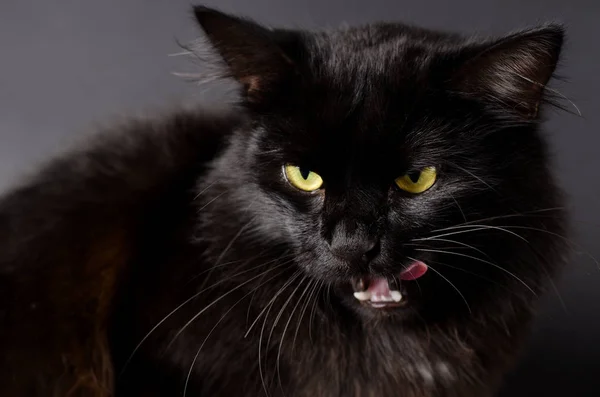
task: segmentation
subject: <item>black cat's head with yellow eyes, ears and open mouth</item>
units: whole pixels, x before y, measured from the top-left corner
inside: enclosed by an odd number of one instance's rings
[[[477,39],[195,15],[252,119],[211,176],[233,224],[363,313],[536,292],[556,242],[532,230],[562,225],[538,216],[560,205],[538,133],[559,25]]]

